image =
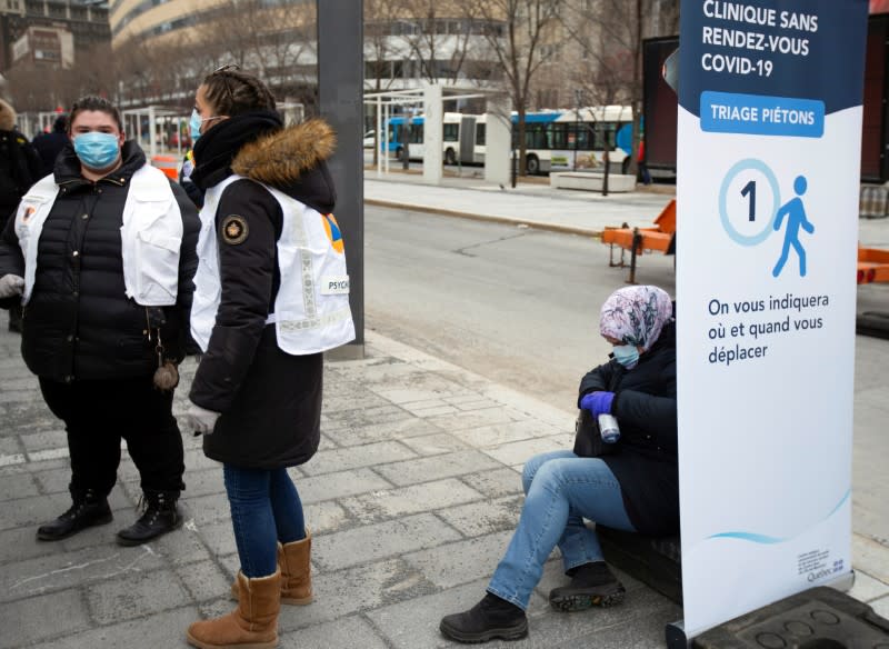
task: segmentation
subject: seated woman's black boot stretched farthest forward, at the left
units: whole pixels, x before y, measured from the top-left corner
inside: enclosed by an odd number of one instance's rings
[[[441,618],[439,630],[463,643],[487,642],[495,638],[518,640],[528,635],[525,611],[490,592],[468,611]]]

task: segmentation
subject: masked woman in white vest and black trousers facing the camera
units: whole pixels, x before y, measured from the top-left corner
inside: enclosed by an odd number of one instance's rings
[[[144,495],[142,516],[118,532],[132,546],[182,525],[172,400],[200,226],[182,189],[124,139],[117,108],[84,97],[70,116],[54,174],[0,237],[0,306],[24,304],[22,357],[68,433],[72,505],[38,539],[111,521],[122,437]]]

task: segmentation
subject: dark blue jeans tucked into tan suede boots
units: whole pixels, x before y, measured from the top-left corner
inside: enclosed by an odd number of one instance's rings
[[[222,466],[241,572],[267,577],[278,569],[278,542],[306,538],[302,502],[287,469]]]

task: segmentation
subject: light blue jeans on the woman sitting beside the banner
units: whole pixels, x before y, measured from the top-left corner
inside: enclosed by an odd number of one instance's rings
[[[558,545],[565,570],[602,560],[588,518],[616,529],[636,531],[623,507],[620,483],[602,460],[571,451],[535,456],[521,477],[525,507],[507,553],[488,585],[488,592],[528,608],[543,563]]]

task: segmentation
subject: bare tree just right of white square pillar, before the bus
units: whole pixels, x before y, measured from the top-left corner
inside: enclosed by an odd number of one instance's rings
[[[462,0],[465,14],[485,24],[483,34],[500,63],[518,112],[519,172],[527,174],[525,116],[537,72],[553,51],[560,0]]]

